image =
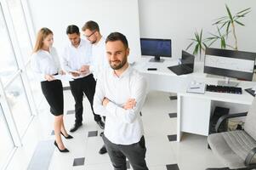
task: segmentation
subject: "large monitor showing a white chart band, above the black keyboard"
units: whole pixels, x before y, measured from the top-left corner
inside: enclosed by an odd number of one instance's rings
[[[256,53],[235,51],[219,48],[206,48],[204,59],[204,73],[234,77],[252,81]],[[218,82],[222,86],[236,86],[236,82]]]

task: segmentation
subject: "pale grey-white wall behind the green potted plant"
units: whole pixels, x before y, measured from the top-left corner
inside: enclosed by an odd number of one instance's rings
[[[255,0],[139,0],[140,37],[172,39],[173,57],[179,58],[196,30],[202,28],[204,34],[216,30],[212,23],[226,14],[225,3],[234,14],[252,8],[242,20],[246,26],[237,26],[236,30],[238,49],[256,52]],[[219,48],[219,42],[213,47]],[[192,48],[189,51],[192,52]]]

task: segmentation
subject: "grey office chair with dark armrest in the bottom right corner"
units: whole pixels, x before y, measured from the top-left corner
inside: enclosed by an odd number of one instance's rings
[[[219,126],[227,119],[246,116],[244,130],[219,133]],[[256,169],[256,99],[248,112],[219,117],[216,132],[208,136],[208,144],[213,154],[225,164],[225,168],[213,169]]]

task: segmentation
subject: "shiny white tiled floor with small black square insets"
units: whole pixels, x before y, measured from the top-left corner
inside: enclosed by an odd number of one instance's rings
[[[73,105],[71,92],[65,91],[65,113],[68,111],[68,114],[65,114],[67,130],[74,124]],[[213,156],[212,151],[208,150],[206,137],[185,134],[180,143],[175,141],[176,105],[177,100],[175,98],[170,100],[167,93],[151,92],[147,96],[141,113],[145,128],[146,162],[149,169],[204,170],[207,167],[223,167]],[[53,118],[48,113],[48,105],[43,103],[39,116],[31,124],[31,130],[24,139],[24,147],[16,151],[9,169],[26,169],[37,143],[45,139],[54,139],[54,135],[51,135]],[[88,100],[85,99],[82,127],[77,132],[71,133],[74,139],[63,139],[70,152],[63,154],[55,149],[48,169],[113,169],[109,156],[98,153],[103,144],[101,132],[100,127],[94,122]],[[26,144],[30,144],[30,149]]]

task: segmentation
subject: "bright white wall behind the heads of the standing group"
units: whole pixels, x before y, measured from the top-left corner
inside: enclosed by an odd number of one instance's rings
[[[27,0],[35,30],[48,27],[54,31],[54,46],[62,50],[68,42],[65,28],[77,25],[82,28],[88,20],[95,20],[107,37],[120,31],[130,46],[130,60],[140,56],[139,14],[137,0]]]

